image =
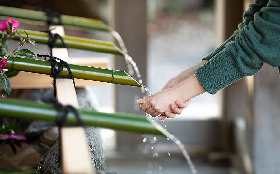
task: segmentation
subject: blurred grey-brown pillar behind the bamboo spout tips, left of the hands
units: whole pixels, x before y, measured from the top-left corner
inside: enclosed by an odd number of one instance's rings
[[[136,62],[144,86],[147,85],[147,34],[146,34],[146,1],[145,0],[111,0],[110,27],[119,32],[127,47],[128,54]],[[116,43],[116,42],[115,42]],[[115,57],[115,69],[128,71],[124,56]],[[133,76],[135,78],[135,76]],[[137,79],[137,78],[135,78]],[[147,95],[147,93],[145,93]],[[139,87],[126,85],[115,86],[115,108],[118,112],[143,114],[135,101],[143,97]],[[135,147],[141,140],[141,134],[117,132],[117,146],[128,149]],[[118,149],[119,149],[118,148]]]

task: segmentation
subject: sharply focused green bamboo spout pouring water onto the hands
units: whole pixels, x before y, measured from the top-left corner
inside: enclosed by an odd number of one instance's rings
[[[142,87],[125,71],[73,64],[68,65],[73,77],[77,79]],[[45,60],[12,56],[7,60],[6,69],[50,75],[51,63]],[[59,76],[70,76],[65,66],[63,71],[59,73]]]

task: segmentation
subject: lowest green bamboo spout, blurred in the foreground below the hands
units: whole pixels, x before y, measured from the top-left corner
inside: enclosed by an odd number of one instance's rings
[[[57,117],[57,109],[51,104],[42,104],[26,100],[1,99],[0,107],[0,115],[4,117],[52,122],[56,121]],[[79,109],[78,113],[86,126],[162,135],[145,116],[127,113],[101,113],[83,109]],[[69,124],[77,124],[77,120],[72,112],[68,114],[66,122]]]

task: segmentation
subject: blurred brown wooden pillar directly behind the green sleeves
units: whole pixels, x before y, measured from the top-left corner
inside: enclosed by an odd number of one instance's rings
[[[238,29],[238,24],[242,22],[243,0],[216,0],[215,3],[217,44],[221,45]],[[246,91],[244,79],[223,89],[224,105],[223,117],[221,119],[221,145],[224,150],[233,150],[232,121],[236,116],[243,115],[244,113],[244,103],[242,101],[246,99],[240,99],[239,97],[246,95],[239,94],[246,93]]]

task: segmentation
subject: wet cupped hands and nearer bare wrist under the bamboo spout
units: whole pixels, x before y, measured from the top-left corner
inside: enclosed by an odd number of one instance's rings
[[[181,114],[191,98],[205,91],[196,75],[193,75],[174,87],[163,89],[147,98],[137,100],[137,102],[141,104],[141,110],[153,117],[160,115],[158,119],[173,118],[176,116],[175,113]]]

